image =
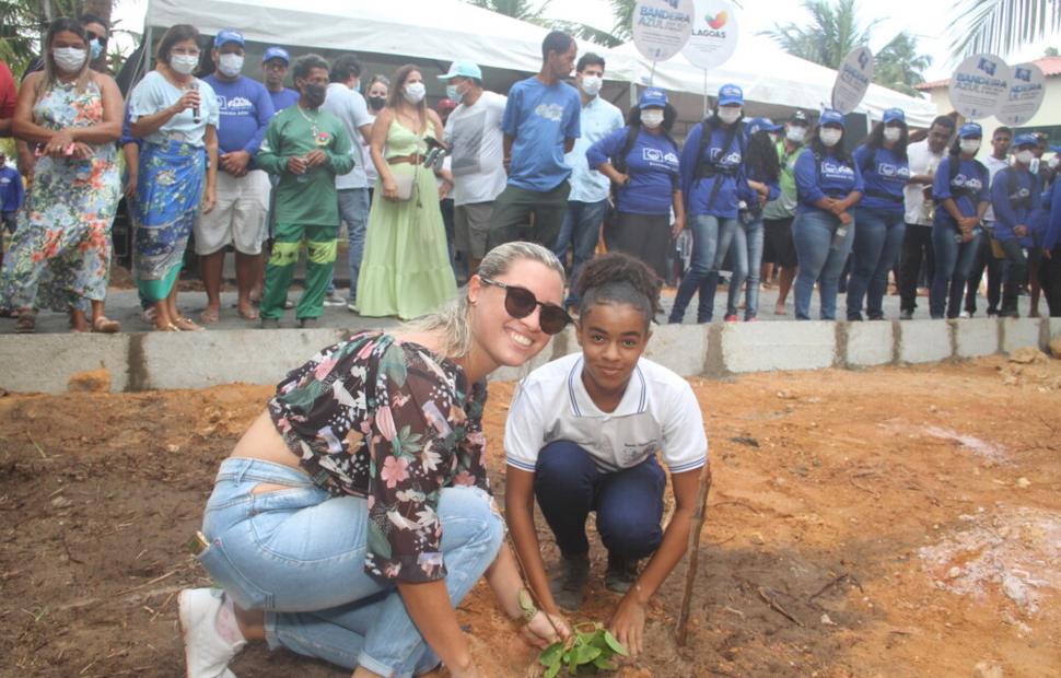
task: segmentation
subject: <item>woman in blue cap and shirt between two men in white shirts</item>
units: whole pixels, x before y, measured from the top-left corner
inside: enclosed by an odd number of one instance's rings
[[[944,314],[956,318],[961,312],[965,283],[983,233],[983,213],[991,202],[988,168],[976,159],[982,139],[978,124],[963,125],[932,184],[935,274],[929,289],[929,315],[933,319],[942,319]]]

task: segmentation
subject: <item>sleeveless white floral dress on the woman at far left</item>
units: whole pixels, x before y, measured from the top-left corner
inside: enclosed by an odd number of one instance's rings
[[[103,95],[94,81],[55,83],[33,106],[48,129],[103,122]],[[84,160],[43,156],[0,274],[0,306],[86,311],[103,301],[110,276],[110,225],[121,177],[113,143],[92,147]]]

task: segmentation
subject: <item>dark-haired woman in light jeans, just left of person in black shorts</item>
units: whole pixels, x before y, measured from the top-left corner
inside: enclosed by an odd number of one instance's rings
[[[770,139],[770,132],[780,126],[767,118],[755,118],[748,125],[748,152],[745,155],[745,182],[741,186],[742,207],[737,227],[733,232],[733,278],[726,299],[726,323],[737,322],[737,303],[741,285],[747,283],[744,302],[744,320],[750,323],[759,313],[759,270],[762,264],[762,208],[781,195],[779,184],[781,164]]]

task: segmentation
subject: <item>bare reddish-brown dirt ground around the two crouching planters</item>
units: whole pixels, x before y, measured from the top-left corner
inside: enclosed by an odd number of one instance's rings
[[[673,641],[681,564],[622,675],[1059,674],[1061,361],[693,385],[714,486],[689,643]],[[512,387],[488,409],[499,494]],[[0,675],[184,675],[176,593],[208,584],[184,545],[269,393],[0,398]],[[616,601],[594,548],[575,621]],[[524,674],[534,653],[481,586],[459,616],[488,675]],[[264,647],[232,668],[345,675]]]

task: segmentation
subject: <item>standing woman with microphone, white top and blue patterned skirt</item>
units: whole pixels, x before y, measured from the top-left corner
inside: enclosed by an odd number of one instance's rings
[[[178,24],[156,50],[158,67],[129,96],[132,135],[143,139],[135,200],[137,287],[160,331],[202,328],[177,309],[177,277],[196,217],[217,199],[218,97],[194,73],[199,32]]]

